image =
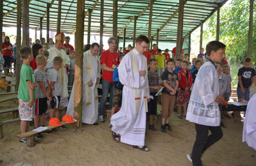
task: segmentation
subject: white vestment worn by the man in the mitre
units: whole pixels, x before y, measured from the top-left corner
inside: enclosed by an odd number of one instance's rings
[[[52,47],[51,49],[48,50],[49,51],[49,61],[52,61],[53,63],[53,59],[56,56],[60,56],[63,60],[63,66],[60,68],[59,72],[61,75],[61,98],[68,98],[68,75],[67,75],[67,70],[64,67],[66,64],[68,64],[68,66],[70,66],[70,59],[67,56],[66,52],[61,49],[58,50],[56,49],[56,47]]]

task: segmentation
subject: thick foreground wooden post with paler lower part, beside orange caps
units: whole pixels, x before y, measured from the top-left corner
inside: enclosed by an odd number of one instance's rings
[[[75,94],[74,94],[74,117],[79,121],[77,125],[82,126],[83,107],[83,41],[84,41],[84,0],[77,0],[76,15],[76,66],[75,66]]]

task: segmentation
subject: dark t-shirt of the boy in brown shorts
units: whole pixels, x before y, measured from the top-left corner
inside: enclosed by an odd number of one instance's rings
[[[162,75],[162,80],[166,80],[166,83],[172,87],[173,89],[175,88],[176,86],[176,80],[179,80],[179,76],[176,72],[169,72],[168,70],[164,71],[163,72],[163,75]],[[166,94],[169,94],[170,96],[172,96],[170,94],[170,90],[167,89],[166,87],[164,87],[162,93],[166,93]],[[175,95],[175,94],[174,94]]]

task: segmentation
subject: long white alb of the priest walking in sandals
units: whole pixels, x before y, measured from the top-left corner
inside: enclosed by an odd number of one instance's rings
[[[138,62],[138,70],[147,70],[145,64],[147,59],[143,54],[140,54],[135,49],[135,54]],[[132,57],[131,52],[126,54],[118,66],[118,75],[120,82],[124,85],[122,94],[122,107],[114,114],[110,123],[111,130],[121,135],[121,142],[134,146],[145,145],[146,132],[146,112],[144,101],[140,100],[140,109],[138,114],[135,111],[134,88],[140,88],[140,98],[143,96],[149,98],[148,79],[140,77],[139,72],[132,72]],[[146,95],[143,87],[146,88]]]

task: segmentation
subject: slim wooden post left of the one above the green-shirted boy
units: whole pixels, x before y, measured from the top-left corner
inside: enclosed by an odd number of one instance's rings
[[[15,91],[19,89],[20,83],[20,44],[21,44],[21,17],[22,17],[22,0],[17,0],[17,40],[16,40],[16,71],[15,71],[15,79],[16,79],[16,87]]]

